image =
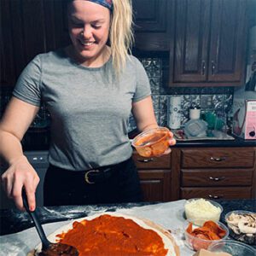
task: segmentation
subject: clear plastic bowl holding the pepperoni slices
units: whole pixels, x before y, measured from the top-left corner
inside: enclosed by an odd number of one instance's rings
[[[189,234],[189,232],[187,231],[187,228],[189,226],[189,223],[191,223],[192,221],[189,221],[187,220],[184,224],[183,224],[183,227],[184,227],[184,236],[185,236],[185,241],[186,241],[186,245],[194,250],[194,251],[198,251],[200,249],[207,249],[213,242],[216,242],[216,241],[222,241],[224,239],[227,239],[227,237],[229,236],[230,232],[229,232],[229,229],[222,223],[220,222],[215,222],[216,224],[218,224],[218,226],[225,230],[225,235],[224,237],[218,239],[218,240],[207,240],[207,239],[202,239],[198,236],[193,236],[191,234]],[[193,222],[192,222],[193,223]],[[198,228],[198,227],[201,227],[202,225],[194,225],[193,224],[193,230]]]

